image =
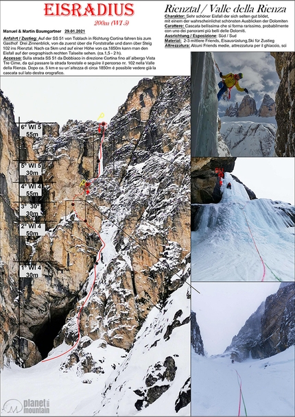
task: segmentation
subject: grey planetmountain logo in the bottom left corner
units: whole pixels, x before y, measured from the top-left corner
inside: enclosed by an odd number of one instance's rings
[[[49,400],[24,400],[12,398],[3,405],[3,411],[7,414],[18,414],[23,410],[23,414],[49,414]]]

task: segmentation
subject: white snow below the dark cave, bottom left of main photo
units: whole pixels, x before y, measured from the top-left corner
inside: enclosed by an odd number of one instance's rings
[[[11,413],[5,412],[2,407],[10,398],[16,398],[23,401],[28,398],[31,400],[49,401],[50,416],[69,416],[77,407],[83,398],[89,396],[98,396],[99,392],[104,389],[104,379],[106,372],[113,371],[112,365],[119,364],[126,355],[125,350],[114,348],[104,342],[103,348],[100,346],[102,340],[96,340],[88,346],[97,361],[104,361],[102,367],[105,373],[88,373],[78,377],[76,369],[68,372],[60,371],[60,366],[64,362],[64,357],[59,357],[53,361],[39,362],[31,368],[19,368],[13,362],[10,367],[4,367],[1,372],[1,415],[10,416]],[[60,355],[69,349],[69,345],[63,343],[53,349],[52,356]],[[99,362],[100,364],[100,362]],[[82,383],[82,381],[91,380],[92,383]],[[95,405],[93,404],[93,410]],[[36,415],[36,414],[26,414]]]

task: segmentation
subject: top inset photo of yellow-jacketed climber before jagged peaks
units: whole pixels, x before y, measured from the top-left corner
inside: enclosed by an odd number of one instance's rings
[[[294,52],[191,53],[191,156],[295,156]]]

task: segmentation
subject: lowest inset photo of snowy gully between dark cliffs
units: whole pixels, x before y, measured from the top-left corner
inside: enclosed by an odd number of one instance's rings
[[[192,416],[294,416],[294,283],[195,283]]]

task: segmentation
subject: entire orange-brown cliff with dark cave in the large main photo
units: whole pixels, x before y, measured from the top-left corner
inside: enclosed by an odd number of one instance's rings
[[[1,353],[5,360],[27,367],[62,342],[73,346],[78,340],[78,311],[93,285],[80,314],[81,339],[64,357],[60,372],[75,370],[76,377],[85,372],[109,374],[89,348],[98,342],[99,349],[119,348],[126,364],[119,368],[122,359],[113,364],[119,373],[104,393],[106,408],[111,407],[108,395],[120,391],[123,398],[128,392],[116,384],[126,384],[128,364],[136,356],[133,346],[139,346],[137,353],[150,355],[141,371],[144,387],[136,379],[128,382],[134,386],[133,412],[163,398],[175,384],[174,408],[178,411],[189,403],[189,355],[185,353],[187,372],[181,377],[183,358],[176,349],[176,333],[189,341],[185,281],[190,274],[190,85],[185,77],[156,77],[141,80],[130,91],[108,123],[103,174],[88,194],[80,184],[97,176],[103,137],[99,123],[70,120],[62,132],[57,125],[43,126],[41,138],[24,138],[23,158],[43,167],[42,176],[23,178],[43,185],[42,197],[34,197],[42,215],[27,221],[46,221],[47,227],[44,236],[20,241],[17,227],[12,229],[18,222],[18,187],[13,182],[18,180],[18,137],[11,105],[1,97]],[[75,195],[80,217],[73,211]],[[106,248],[97,259],[103,241]],[[14,262],[19,247],[22,261],[43,267],[41,277],[23,278],[20,287]]]

